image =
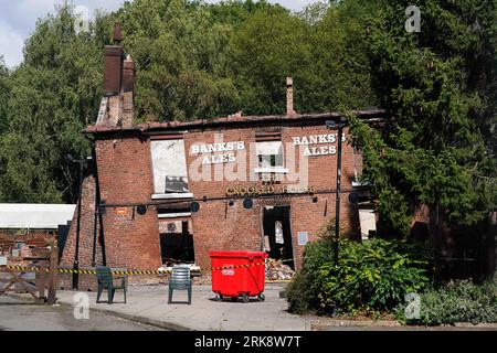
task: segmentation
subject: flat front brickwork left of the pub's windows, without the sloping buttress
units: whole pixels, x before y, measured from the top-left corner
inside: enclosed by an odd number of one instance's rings
[[[157,268],[161,265],[157,210],[139,215],[129,204],[147,204],[154,191],[150,145],[136,137],[96,141],[105,254],[112,267]]]

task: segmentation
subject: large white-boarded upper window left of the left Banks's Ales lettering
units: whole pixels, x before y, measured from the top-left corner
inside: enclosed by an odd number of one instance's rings
[[[155,193],[188,193],[183,140],[155,140],[150,145]]]

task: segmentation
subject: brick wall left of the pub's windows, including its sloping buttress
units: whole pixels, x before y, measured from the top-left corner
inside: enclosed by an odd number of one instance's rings
[[[110,267],[157,268],[160,266],[159,228],[157,211],[148,207],[139,215],[130,204],[147,204],[152,191],[149,143],[138,138],[96,141],[96,161],[105,249],[99,242],[97,222],[96,264]],[[94,242],[96,184],[89,175],[83,183],[82,223],[80,234],[80,266],[92,266]],[[113,206],[114,205],[114,206]],[[124,206],[118,206],[124,205]],[[62,266],[72,266],[75,256],[77,208],[62,256]]]

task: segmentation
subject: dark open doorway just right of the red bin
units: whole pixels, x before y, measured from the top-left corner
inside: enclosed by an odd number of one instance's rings
[[[269,258],[282,259],[285,265],[295,269],[289,212],[289,206],[264,206],[264,249]]]

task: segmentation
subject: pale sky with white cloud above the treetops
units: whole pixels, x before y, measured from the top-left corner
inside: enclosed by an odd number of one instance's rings
[[[36,19],[53,12],[55,4],[64,0],[0,0],[0,55],[3,56],[8,67],[14,67],[22,62],[22,47],[24,40],[34,30]],[[73,0],[73,3],[89,9],[114,11],[125,0]],[[216,2],[216,0],[207,0]],[[278,2],[287,9],[299,11],[313,0],[268,0]]]

